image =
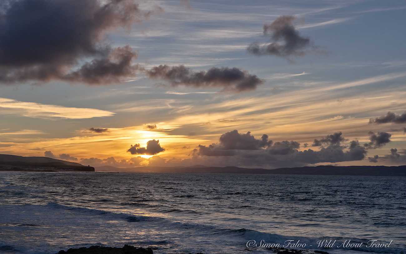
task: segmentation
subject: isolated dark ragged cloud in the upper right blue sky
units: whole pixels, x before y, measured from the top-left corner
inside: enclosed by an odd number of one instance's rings
[[[263,26],[263,34],[270,35],[271,43],[261,46],[251,43],[247,50],[249,53],[262,55],[275,55],[281,57],[304,56],[311,47],[309,38],[302,37],[293,25],[294,16],[278,17],[271,24]],[[280,42],[283,43],[280,43]]]

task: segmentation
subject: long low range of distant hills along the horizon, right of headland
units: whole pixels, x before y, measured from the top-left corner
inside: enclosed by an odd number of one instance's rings
[[[279,169],[248,169],[242,167],[96,167],[97,172],[161,172],[161,173],[218,173],[218,174],[283,174],[333,176],[406,176],[406,166],[316,166]]]

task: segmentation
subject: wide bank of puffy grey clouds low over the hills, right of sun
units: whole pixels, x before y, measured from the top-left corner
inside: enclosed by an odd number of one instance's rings
[[[221,138],[222,137],[222,138]],[[300,143],[281,141],[272,143],[267,135],[255,139],[250,132],[239,134],[237,130],[220,137],[219,143],[199,145],[193,152],[192,161],[205,165],[235,165],[242,167],[300,167],[315,163],[337,163],[359,161],[365,158],[366,148],[358,141],[341,145],[346,141],[341,132],[320,139],[323,144],[319,151],[299,151]],[[210,156],[208,159],[206,156]],[[206,159],[205,159],[206,158]]]

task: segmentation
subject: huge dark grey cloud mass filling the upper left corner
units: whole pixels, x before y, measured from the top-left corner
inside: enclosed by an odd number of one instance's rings
[[[133,0],[6,3],[0,5],[0,82],[106,84],[134,76],[136,53],[129,46],[111,48],[105,40],[108,31],[151,15]]]

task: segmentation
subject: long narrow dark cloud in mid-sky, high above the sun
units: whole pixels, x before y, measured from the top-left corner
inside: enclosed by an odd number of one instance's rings
[[[208,71],[193,72],[184,65],[159,65],[146,72],[149,78],[166,80],[174,87],[221,87],[224,91],[242,92],[254,90],[263,83],[256,75],[236,67],[213,67]]]

